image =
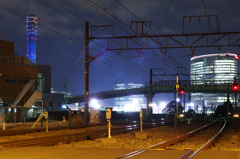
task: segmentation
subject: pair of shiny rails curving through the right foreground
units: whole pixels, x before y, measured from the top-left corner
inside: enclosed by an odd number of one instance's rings
[[[189,137],[193,136],[194,134],[200,133],[200,131],[203,131],[204,129],[210,128],[210,127],[212,127],[216,124],[219,124],[219,122],[222,122],[221,128],[218,129],[218,131],[213,135],[213,137],[210,137],[207,142],[203,143],[202,146],[198,147],[197,149],[196,148],[192,148],[192,149],[190,148],[187,151],[187,153],[179,156],[179,159],[191,159],[191,158],[195,157],[202,150],[206,150],[206,149],[210,148],[212,143],[214,143],[214,141],[216,141],[216,139],[221,134],[221,132],[223,131],[223,129],[225,128],[225,125],[226,125],[226,120],[225,119],[222,119],[222,120],[223,120],[223,122],[219,121],[219,120],[216,120],[216,121],[214,121],[210,124],[204,125],[204,126],[198,128],[198,129],[190,131],[190,132],[188,132],[184,135],[177,136],[173,139],[163,141],[161,143],[152,145],[152,146],[147,147],[147,148],[139,149],[137,151],[134,151],[134,152],[131,152],[129,154],[123,155],[121,157],[118,157],[117,159],[138,158],[138,157],[141,156],[141,154],[144,154],[147,151],[170,147],[171,145],[175,145],[182,140],[187,140]]]

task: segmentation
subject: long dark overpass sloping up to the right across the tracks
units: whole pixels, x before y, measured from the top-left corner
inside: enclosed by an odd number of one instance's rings
[[[186,93],[228,93],[233,92],[232,90],[233,81],[212,81],[212,80],[201,80],[201,81],[179,81],[180,89],[184,88]],[[89,94],[89,98],[96,99],[108,99],[116,98],[129,95],[140,95],[144,94],[147,98],[153,97],[157,93],[176,93],[176,81],[159,81],[152,86],[147,85],[140,88],[124,89],[124,90],[111,90],[103,91],[98,93]],[[67,97],[67,103],[84,102],[84,95]],[[147,102],[147,104],[149,104]]]

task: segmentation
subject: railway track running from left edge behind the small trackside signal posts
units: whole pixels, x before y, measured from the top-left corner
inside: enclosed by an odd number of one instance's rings
[[[153,122],[151,124],[143,125],[144,129],[153,128],[156,126],[163,125],[161,122]],[[139,130],[139,125],[132,124],[127,126],[116,127],[112,129],[111,135],[117,135],[121,133],[132,132],[135,130]],[[53,146],[59,143],[71,143],[77,142],[82,140],[93,140],[100,137],[106,137],[108,130],[101,129],[95,131],[88,131],[88,132],[78,132],[78,133],[70,133],[64,135],[54,135],[48,137],[38,137],[32,139],[24,139],[24,140],[17,140],[17,141],[8,141],[8,142],[0,142],[1,147],[23,147],[23,146]]]

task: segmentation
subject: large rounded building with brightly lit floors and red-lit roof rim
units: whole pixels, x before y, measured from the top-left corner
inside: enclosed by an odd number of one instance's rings
[[[231,53],[201,55],[191,58],[191,84],[193,85],[232,85],[237,76],[238,56]],[[203,112],[203,107],[214,108],[227,100],[226,94],[191,93],[194,109]],[[230,97],[233,103],[234,98]],[[210,109],[209,109],[210,110]]]

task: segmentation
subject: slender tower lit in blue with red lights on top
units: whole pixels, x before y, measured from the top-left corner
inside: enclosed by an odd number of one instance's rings
[[[36,63],[37,17],[33,14],[32,7],[27,16],[27,59]]]

